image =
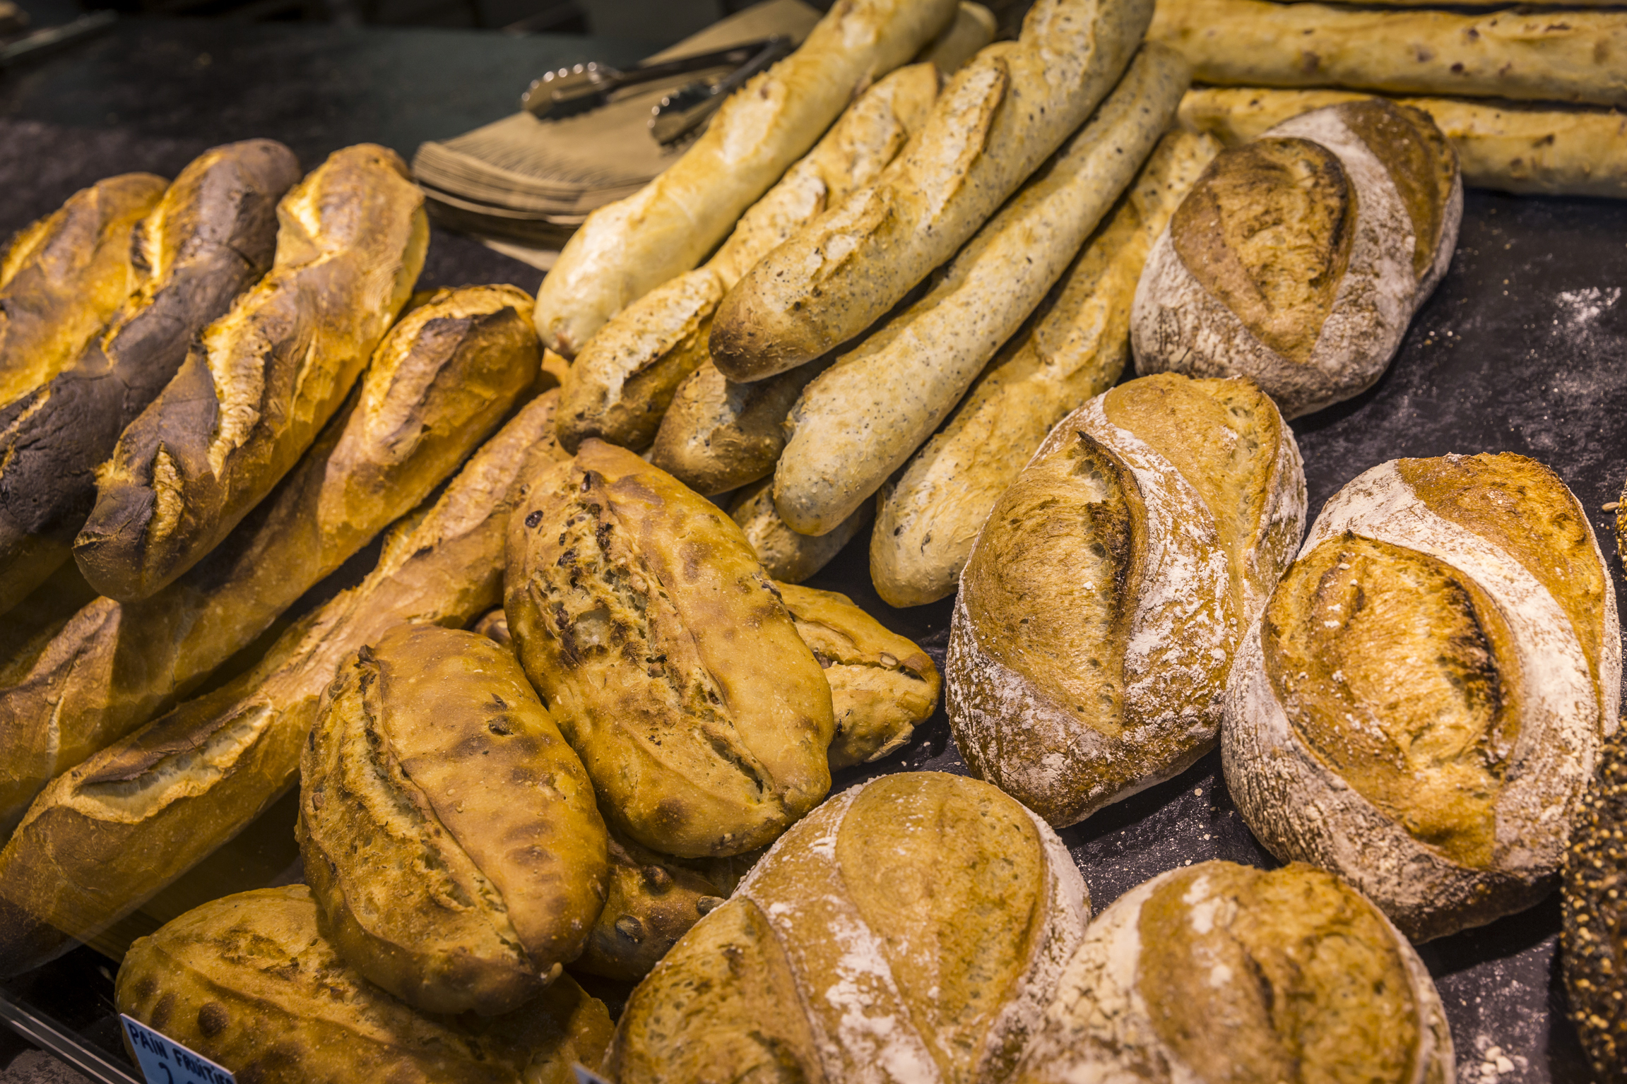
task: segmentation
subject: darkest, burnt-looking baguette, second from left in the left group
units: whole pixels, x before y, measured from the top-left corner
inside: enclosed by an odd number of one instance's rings
[[[70,544],[96,499],[96,468],[176,375],[192,340],[265,275],[277,200],[299,180],[281,143],[205,151],[135,228],[135,291],[104,335],[0,406],[0,593],[31,587],[5,564],[24,548]]]

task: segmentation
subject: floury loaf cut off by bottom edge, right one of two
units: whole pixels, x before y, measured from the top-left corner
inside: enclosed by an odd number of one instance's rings
[[[1085,930],[1012,1084],[1451,1084],[1451,1030],[1406,938],[1339,878],[1206,861]]]

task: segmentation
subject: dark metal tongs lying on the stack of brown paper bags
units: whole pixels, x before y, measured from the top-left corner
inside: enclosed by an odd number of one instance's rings
[[[791,47],[789,37],[773,34],[716,52],[639,65],[630,72],[620,72],[597,62],[578,63],[532,80],[530,88],[521,96],[519,106],[543,120],[552,120],[604,106],[610,94],[628,86],[669,80],[675,75],[734,68],[727,78],[718,83],[695,81],[680,86],[651,109],[651,135],[659,143],[674,143],[704,124],[722,104],[722,99],[791,52]]]

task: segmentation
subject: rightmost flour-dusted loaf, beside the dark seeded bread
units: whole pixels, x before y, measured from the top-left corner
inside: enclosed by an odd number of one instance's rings
[[[1227,785],[1274,855],[1438,938],[1554,887],[1620,673],[1609,569],[1557,475],[1391,460],[1328,501],[1238,648]]]

